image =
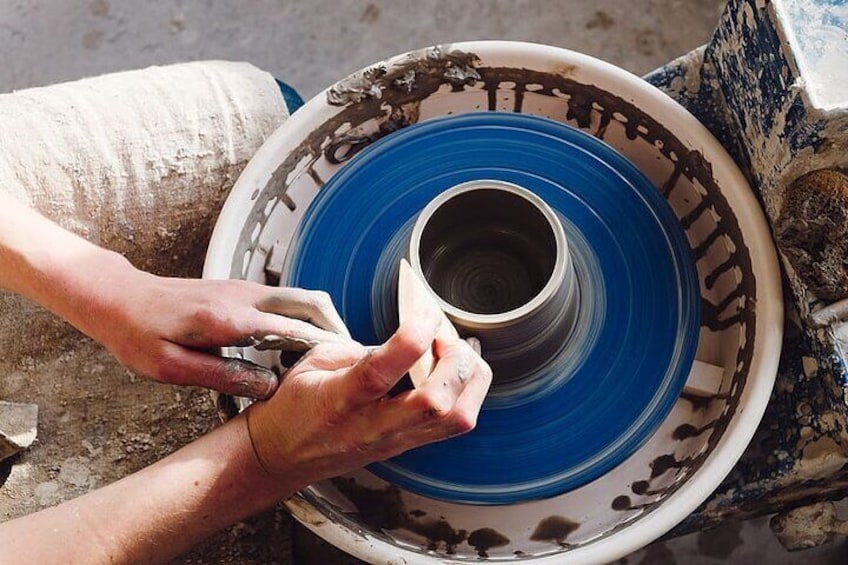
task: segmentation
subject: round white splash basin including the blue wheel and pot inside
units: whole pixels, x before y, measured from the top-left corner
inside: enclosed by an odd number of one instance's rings
[[[294,114],[239,179],[205,275],[327,290],[378,343],[409,255],[493,366],[471,434],[292,499],[316,533],[372,562],[604,562],[683,519],[750,439],[781,337],[771,245],[670,99],[582,55],[482,42]]]

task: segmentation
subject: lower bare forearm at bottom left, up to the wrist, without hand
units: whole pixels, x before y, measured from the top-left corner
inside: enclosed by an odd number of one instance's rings
[[[134,475],[0,524],[0,547],[19,563],[159,563],[303,486],[259,466],[240,416]]]

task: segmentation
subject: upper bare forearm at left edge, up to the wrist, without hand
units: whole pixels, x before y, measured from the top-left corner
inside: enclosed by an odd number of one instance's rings
[[[91,335],[104,307],[102,289],[134,271],[122,256],[62,229],[0,190],[0,288]]]

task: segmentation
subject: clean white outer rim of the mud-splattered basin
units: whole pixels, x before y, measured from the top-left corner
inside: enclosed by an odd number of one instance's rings
[[[602,74],[599,88],[610,92],[630,93],[628,101],[649,115],[663,116],[663,123],[687,146],[700,149],[711,157],[713,176],[722,188],[737,215],[739,229],[752,251],[751,267],[757,281],[756,332],[759,347],[751,359],[745,391],[740,398],[740,408],[713,449],[710,457],[694,472],[674,494],[650,514],[607,535],[604,539],[574,548],[566,553],[535,557],[534,563],[561,565],[563,563],[608,563],[619,559],[659,538],[691,514],[719,486],[742,455],[762,419],[774,385],[783,337],[783,302],[780,270],[771,232],[763,211],[736,163],[724,147],[686,109],[665,93],[641,78],[610,63],[594,57],[558,47],[513,41],[471,41],[451,44],[459,49],[479,55],[481,59],[549,60],[590,68]],[[393,57],[400,60],[404,55]],[[231,265],[236,252],[240,230],[250,216],[255,190],[262,190],[271,178],[274,163],[280,155],[294,149],[314,128],[341,111],[326,103],[327,92],[321,92],[289,120],[278,128],[262,145],[245,167],[230,196],[224,204],[212,233],[203,276],[209,279],[230,278]],[[467,563],[448,556],[424,554],[383,539],[348,529],[328,520],[317,508],[302,497],[287,501],[292,514],[307,528],[351,555],[371,563],[432,565],[439,563]]]

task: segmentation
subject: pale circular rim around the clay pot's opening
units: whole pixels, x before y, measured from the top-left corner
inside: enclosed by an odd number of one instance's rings
[[[513,308],[512,310],[501,312],[499,314],[475,314],[474,312],[457,308],[453,304],[445,301],[430,286],[430,283],[427,281],[427,277],[424,276],[424,270],[421,266],[421,234],[424,232],[424,227],[427,225],[427,222],[433,216],[435,211],[448,200],[456,198],[460,194],[465,194],[466,192],[472,192],[475,190],[500,190],[523,198],[542,213],[545,220],[547,220],[548,225],[551,226],[551,230],[554,233],[554,240],[556,242],[556,259],[554,260],[554,268],[551,271],[551,276],[548,278],[545,286],[542,287],[542,290],[518,308]],[[448,188],[431,200],[429,204],[421,210],[421,213],[418,215],[418,219],[415,221],[415,225],[412,228],[412,235],[409,238],[409,262],[412,265],[413,272],[415,272],[415,274],[424,281],[427,285],[427,289],[430,291],[430,294],[433,295],[439,303],[439,306],[447,313],[448,316],[456,320],[461,320],[464,325],[470,327],[497,328],[515,323],[518,320],[526,318],[533,312],[536,312],[544,306],[554,296],[554,294],[556,294],[556,291],[561,284],[565,284],[567,282],[564,278],[565,273],[568,272],[567,269],[569,264],[568,242],[565,239],[565,230],[563,229],[559,218],[557,218],[554,211],[551,210],[551,207],[533,192],[530,192],[526,188],[517,184],[501,180],[472,180]]]

